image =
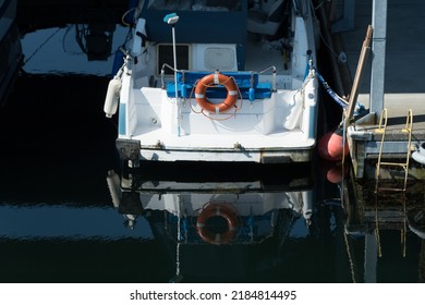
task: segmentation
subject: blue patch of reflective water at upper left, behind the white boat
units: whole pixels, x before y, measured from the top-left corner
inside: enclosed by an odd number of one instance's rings
[[[108,28],[104,34],[107,41],[102,42],[98,35],[89,35],[89,24],[82,23],[26,33],[22,37],[24,70],[34,74],[109,76],[113,65],[111,50],[117,50],[121,41],[113,40],[113,36],[125,37],[127,29],[120,25],[113,32]]]

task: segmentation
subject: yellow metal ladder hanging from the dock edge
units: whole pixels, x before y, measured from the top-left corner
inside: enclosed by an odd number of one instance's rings
[[[380,115],[379,120],[379,127],[376,131],[377,133],[380,133],[381,139],[380,139],[380,148],[379,148],[379,155],[378,155],[378,162],[376,163],[376,184],[375,184],[375,193],[378,191],[401,191],[404,192],[408,184],[408,175],[409,175],[409,162],[410,162],[410,156],[411,156],[411,141],[412,141],[412,125],[413,125],[413,112],[412,109],[409,109],[408,117],[405,120],[405,126],[401,130],[402,133],[408,134],[408,151],[406,151],[406,158],[405,162],[382,162],[382,148],[384,148],[384,142],[385,142],[385,135],[387,131],[387,109],[382,110],[382,113]],[[380,167],[381,166],[394,166],[394,167],[401,167],[404,170],[404,185],[403,188],[400,187],[379,187],[379,178],[380,178]]]

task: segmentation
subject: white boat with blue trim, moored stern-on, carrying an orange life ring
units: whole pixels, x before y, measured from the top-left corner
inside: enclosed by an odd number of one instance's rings
[[[107,117],[118,110],[122,161],[311,161],[312,3],[248,2],[146,0],[131,11],[105,101]]]

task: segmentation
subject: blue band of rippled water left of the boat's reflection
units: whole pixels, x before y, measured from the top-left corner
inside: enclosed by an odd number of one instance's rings
[[[141,220],[135,230],[126,230],[122,219],[109,206],[15,205],[0,206],[2,236],[20,241],[93,240],[100,242],[121,239],[153,239],[148,223]]]

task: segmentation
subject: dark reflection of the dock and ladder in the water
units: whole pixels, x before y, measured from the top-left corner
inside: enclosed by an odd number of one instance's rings
[[[343,200],[345,243],[353,279],[381,282],[388,270],[392,270],[394,280],[417,274],[418,281],[423,281],[423,183],[410,185],[406,192],[376,193],[373,184],[354,181],[353,176],[347,182]]]

